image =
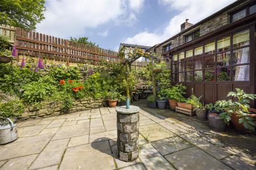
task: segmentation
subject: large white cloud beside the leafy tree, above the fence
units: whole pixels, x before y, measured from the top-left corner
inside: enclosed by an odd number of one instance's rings
[[[97,28],[109,22],[132,25],[137,22],[133,11],[144,0],[47,0],[46,19],[36,31],[56,37],[88,35],[86,28]],[[106,33],[105,33],[106,35]]]

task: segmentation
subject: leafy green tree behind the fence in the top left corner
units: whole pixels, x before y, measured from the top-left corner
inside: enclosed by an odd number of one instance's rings
[[[35,29],[44,19],[45,0],[1,0],[0,23],[14,27]]]

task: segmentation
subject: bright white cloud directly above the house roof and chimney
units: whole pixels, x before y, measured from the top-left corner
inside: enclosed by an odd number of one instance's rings
[[[190,23],[195,24],[234,1],[236,0],[222,0],[216,3],[214,0],[158,0],[159,5],[167,6],[168,10],[177,11],[177,15],[170,19],[167,27],[162,31],[139,32],[124,42],[140,45],[158,44],[180,32],[180,24],[184,23],[185,19],[188,18]]]

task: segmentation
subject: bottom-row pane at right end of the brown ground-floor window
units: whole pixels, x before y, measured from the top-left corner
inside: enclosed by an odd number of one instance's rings
[[[249,81],[249,65],[233,67],[233,81]]]

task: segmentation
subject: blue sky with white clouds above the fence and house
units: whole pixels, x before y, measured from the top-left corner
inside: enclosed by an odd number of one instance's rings
[[[121,42],[153,46],[235,0],[46,0],[45,17],[36,31],[69,39],[89,37],[105,49]]]

